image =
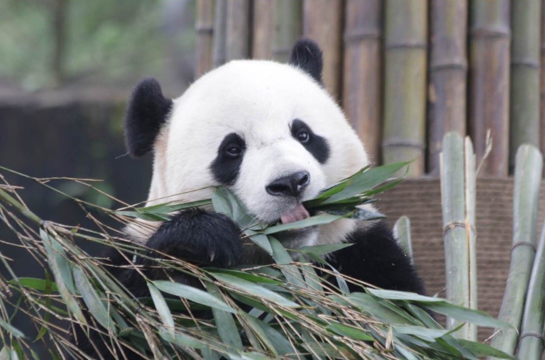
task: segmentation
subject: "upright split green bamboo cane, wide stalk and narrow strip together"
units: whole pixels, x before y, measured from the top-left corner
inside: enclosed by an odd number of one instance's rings
[[[465,149],[464,149],[465,148]],[[475,160],[469,139],[445,135],[440,154],[441,203],[445,243],[446,297],[456,305],[476,308]],[[462,322],[447,318],[447,328]],[[476,327],[467,323],[455,337],[475,339]]]

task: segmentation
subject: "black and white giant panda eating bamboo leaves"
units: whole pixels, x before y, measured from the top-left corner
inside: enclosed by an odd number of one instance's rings
[[[223,185],[263,223],[307,218],[303,201],[370,163],[326,91],[322,68],[318,45],[301,39],[287,64],[231,61],[174,100],[164,97],[154,79],[138,83],[126,109],[126,146],[133,157],[153,152],[147,205],[207,199],[211,188]],[[238,225],[211,209],[181,211],[164,223],[137,221],[127,232],[152,251],[199,264],[234,267],[256,261],[245,251]],[[276,236],[292,249],[353,243],[328,257],[338,271],[383,289],[424,292],[415,267],[382,220],[340,219]],[[126,256],[108,256],[113,265],[126,265]],[[164,277],[150,260],[135,262],[148,277]],[[141,275],[130,267],[113,267],[112,273],[135,296],[147,295]]]

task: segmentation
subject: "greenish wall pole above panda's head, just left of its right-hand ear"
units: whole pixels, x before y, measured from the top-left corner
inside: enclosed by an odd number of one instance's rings
[[[276,0],[272,58],[288,62],[295,41],[301,37],[301,0]]]

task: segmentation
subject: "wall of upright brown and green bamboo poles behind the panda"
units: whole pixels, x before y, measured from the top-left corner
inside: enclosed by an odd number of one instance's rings
[[[469,135],[479,176],[545,147],[545,0],[198,0],[197,76],[231,59],[285,62],[311,38],[324,83],[375,164],[437,176],[443,135]],[[492,139],[490,142],[488,134]],[[492,147],[490,147],[492,143]]]

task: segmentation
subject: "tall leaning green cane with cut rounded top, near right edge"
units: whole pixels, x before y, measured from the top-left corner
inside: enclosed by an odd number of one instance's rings
[[[498,319],[510,323],[512,328],[496,329],[498,333],[490,343],[510,355],[517,345],[524,298],[534,262],[542,166],[543,157],[536,148],[529,145],[519,147],[514,170],[511,266],[498,315]]]

